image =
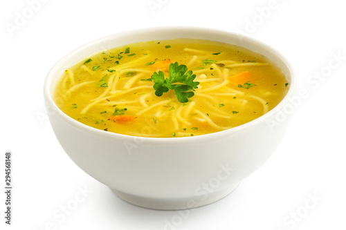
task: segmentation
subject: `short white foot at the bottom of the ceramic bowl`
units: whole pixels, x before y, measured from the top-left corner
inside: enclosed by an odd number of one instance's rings
[[[117,195],[122,200],[125,200],[126,202],[129,202],[130,204],[134,204],[139,207],[158,210],[183,210],[201,207],[216,202],[217,200],[221,200],[222,198],[232,193],[237,188],[238,184],[239,183],[232,184],[227,189],[217,191],[214,193],[208,193],[199,197],[170,199],[149,198],[124,193],[116,189],[110,189],[115,195]]]

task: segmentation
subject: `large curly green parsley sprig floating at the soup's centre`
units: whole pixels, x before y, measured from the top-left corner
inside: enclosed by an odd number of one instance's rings
[[[198,88],[199,82],[194,82],[196,75],[192,75],[192,71],[186,71],[188,67],[185,65],[179,65],[178,62],[170,64],[170,76],[165,78],[162,71],[155,72],[152,75],[154,81],[155,95],[161,97],[163,93],[167,93],[168,90],[174,90],[179,102],[188,102],[188,98],[192,97],[194,93],[192,90]]]

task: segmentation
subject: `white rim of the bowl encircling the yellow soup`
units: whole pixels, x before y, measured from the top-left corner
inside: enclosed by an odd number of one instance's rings
[[[79,46],[78,48],[75,48],[74,50],[71,50],[66,55],[64,55],[62,58],[60,58],[48,71],[48,74],[46,75],[46,78],[44,80],[44,102],[46,103],[46,109],[48,113],[48,117],[50,115],[59,115],[64,122],[70,124],[71,126],[74,126],[75,128],[79,128],[86,132],[95,133],[100,136],[105,137],[111,137],[116,138],[120,140],[129,140],[129,141],[135,141],[136,143],[149,143],[149,142],[155,142],[159,144],[165,144],[165,143],[189,143],[189,142],[201,142],[201,141],[210,141],[210,140],[220,140],[223,137],[226,137],[228,135],[233,135],[234,133],[244,131],[246,128],[249,128],[251,126],[255,126],[256,124],[260,124],[261,122],[265,122],[268,117],[271,117],[275,115],[277,112],[281,111],[284,105],[286,105],[289,102],[289,99],[293,97],[295,94],[295,90],[297,87],[297,77],[295,76],[295,73],[293,71],[293,68],[289,61],[281,54],[281,52],[277,51],[276,49],[272,48],[271,46],[268,46],[268,44],[265,44],[264,42],[254,39],[253,37],[248,37],[248,35],[242,35],[242,40],[246,42],[250,42],[251,44],[255,44],[257,47],[261,47],[265,50],[268,50],[268,53],[271,53],[275,55],[284,66],[289,70],[289,90],[287,91],[284,98],[277,104],[274,108],[271,109],[271,111],[268,111],[264,115],[261,115],[260,117],[257,117],[256,119],[251,120],[250,122],[247,122],[245,124],[235,126],[233,128],[226,129],[224,131],[218,131],[215,133],[207,133],[203,135],[194,135],[194,136],[187,136],[187,137],[140,137],[140,136],[133,136],[133,135],[125,135],[120,133],[113,133],[108,131],[103,131],[98,128],[93,128],[91,126],[88,126],[86,124],[82,124],[81,122],[78,122],[77,120],[73,119],[72,117],[69,117],[69,115],[66,115],[64,112],[60,110],[59,107],[53,102],[53,92],[51,92],[51,82],[53,78],[55,77],[55,72],[57,68],[59,67],[59,64],[64,63],[66,59],[69,57],[72,57],[73,55],[76,55],[81,50],[84,50],[88,48],[89,46],[93,46],[94,44],[98,44],[104,40],[107,40],[111,37],[117,38],[117,37],[126,37],[133,34],[143,34],[143,33],[150,33],[150,32],[176,32],[176,31],[188,31],[188,30],[194,30],[199,32],[208,32],[208,33],[215,33],[215,34],[223,34],[230,36],[230,41],[232,41],[232,37],[237,37],[236,32],[227,31],[227,30],[217,30],[213,28],[204,28],[204,27],[195,27],[195,26],[165,26],[165,27],[149,27],[149,28],[141,28],[141,29],[134,29],[134,30],[126,30],[122,32],[116,32],[111,35],[106,35],[104,37],[100,37],[98,39],[94,39],[93,41],[89,41],[86,44],[83,44],[82,46]],[[201,36],[200,39],[202,38]],[[154,40],[154,39],[153,39]],[[217,41],[217,39],[215,39]],[[251,50],[251,49],[249,49]],[[256,52],[256,51],[255,51]],[[91,55],[91,54],[90,54]],[[264,55],[266,56],[266,55]],[[53,112],[48,111],[48,107],[53,109]]]

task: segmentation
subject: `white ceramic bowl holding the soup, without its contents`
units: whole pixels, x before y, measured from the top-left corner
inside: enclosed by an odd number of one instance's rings
[[[289,92],[273,110],[252,122],[194,137],[133,137],[91,128],[54,104],[53,88],[66,68],[93,52],[137,41],[209,39],[243,46],[275,61]],[[248,37],[206,28],[148,28],[103,37],[60,59],[46,77],[44,97],[53,130],[73,162],[123,200],[151,209],[190,209],[231,193],[270,157],[286,131],[295,88],[292,68],[277,51]],[[282,116],[284,114],[284,118]]]

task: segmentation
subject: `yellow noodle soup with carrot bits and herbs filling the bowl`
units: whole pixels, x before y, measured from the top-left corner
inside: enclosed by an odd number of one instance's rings
[[[53,99],[66,115],[104,131],[186,137],[250,122],[288,89],[282,70],[260,54],[215,41],[172,39],[86,57],[65,71]]]

